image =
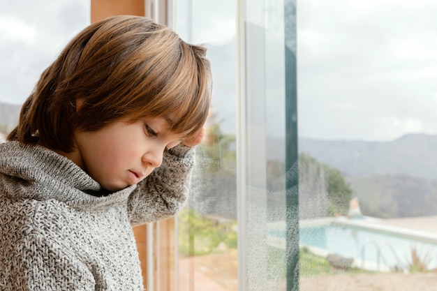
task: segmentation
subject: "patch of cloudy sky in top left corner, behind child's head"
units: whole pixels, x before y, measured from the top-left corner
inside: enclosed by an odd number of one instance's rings
[[[90,23],[89,0],[0,2],[0,101],[21,104],[40,73]]]

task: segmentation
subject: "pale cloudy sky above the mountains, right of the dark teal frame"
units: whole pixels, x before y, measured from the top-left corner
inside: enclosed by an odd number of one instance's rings
[[[436,13],[436,1],[298,1],[299,135],[437,133]]]

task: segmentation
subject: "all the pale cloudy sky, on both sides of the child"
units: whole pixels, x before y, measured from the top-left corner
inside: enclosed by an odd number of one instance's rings
[[[223,1],[193,2],[193,41],[211,43],[217,64],[235,61],[236,10]],[[89,0],[0,1],[1,102],[21,104],[29,96],[43,69],[89,24],[89,6]],[[435,0],[297,0],[299,136],[386,141],[437,134],[435,15]],[[220,57],[216,50],[228,52]],[[214,89],[232,95],[235,67],[216,67]],[[235,122],[235,103],[215,102]],[[274,114],[267,117],[273,128]]]

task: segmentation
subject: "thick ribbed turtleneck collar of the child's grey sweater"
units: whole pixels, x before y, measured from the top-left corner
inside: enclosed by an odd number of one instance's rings
[[[0,191],[15,199],[59,200],[100,209],[126,203],[135,189],[108,193],[73,161],[38,144],[0,144]],[[101,197],[99,197],[101,196]]]

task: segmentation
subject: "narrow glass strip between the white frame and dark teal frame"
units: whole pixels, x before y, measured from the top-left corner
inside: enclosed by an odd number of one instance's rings
[[[246,290],[286,290],[283,1],[246,3]]]

